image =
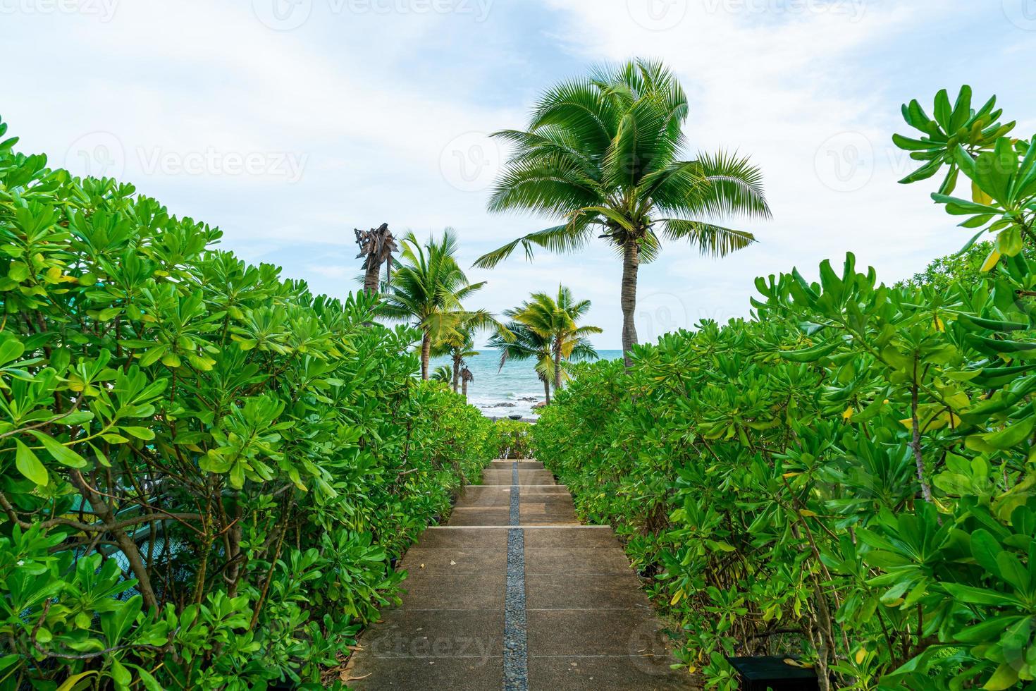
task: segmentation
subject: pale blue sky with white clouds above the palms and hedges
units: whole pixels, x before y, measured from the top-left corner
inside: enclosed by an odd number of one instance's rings
[[[556,220],[490,214],[538,94],[601,63],[665,61],[689,99],[688,157],[736,150],[773,219],[723,259],[665,246],[640,269],[640,340],[748,316],[756,276],[853,252],[886,283],[968,239],[897,184],[900,104],[961,84],[1036,129],[1036,0],[0,0],[0,117],[52,167],[133,182],[220,227],[223,249],[317,292],[356,287],[354,228],[456,230],[460,259]],[[621,264],[602,243],[515,256],[469,307],[559,282],[621,342]]]

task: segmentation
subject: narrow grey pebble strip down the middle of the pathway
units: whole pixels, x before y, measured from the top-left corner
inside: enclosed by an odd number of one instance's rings
[[[503,691],[528,691],[528,635],[525,620],[525,534],[521,527],[518,463],[511,469],[511,527],[503,598]]]

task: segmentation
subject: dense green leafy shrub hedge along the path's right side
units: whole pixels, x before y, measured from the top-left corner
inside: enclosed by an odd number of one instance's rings
[[[818,283],[757,279],[751,321],[583,366],[533,428],[714,687],[736,688],[724,656],[760,653],[845,689],[1036,675],[1036,145],[969,103],[941,93],[928,121],[915,102],[928,136],[897,141],[952,162],[936,200],[997,233],[981,271],[889,288],[848,255]],[[954,171],[978,201],[948,196]]]

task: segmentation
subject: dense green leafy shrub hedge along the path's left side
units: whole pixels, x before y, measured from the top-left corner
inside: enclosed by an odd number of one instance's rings
[[[319,688],[492,425],[413,377],[420,335],[366,294],[313,295],[12,143],[0,687]]]

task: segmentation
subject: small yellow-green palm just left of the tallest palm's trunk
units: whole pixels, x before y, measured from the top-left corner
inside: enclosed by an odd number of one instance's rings
[[[562,361],[569,359],[585,337],[603,330],[598,326],[580,326],[577,323],[589,308],[588,299],[576,300],[569,288],[559,285],[556,298],[547,293],[533,293],[531,299],[522,303],[521,307],[505,312],[549,342],[555,393],[562,387],[565,376]]]

